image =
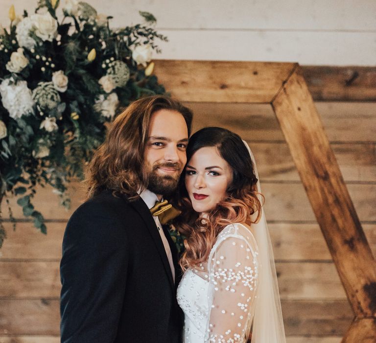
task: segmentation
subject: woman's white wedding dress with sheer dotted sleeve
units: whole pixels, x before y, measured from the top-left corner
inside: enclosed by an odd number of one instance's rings
[[[227,225],[207,263],[185,271],[177,299],[185,315],[184,343],[243,343],[255,311],[258,246],[249,227]]]

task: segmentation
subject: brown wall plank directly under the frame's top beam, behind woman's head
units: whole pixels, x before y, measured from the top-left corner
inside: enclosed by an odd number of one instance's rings
[[[268,104],[185,103],[194,113],[193,131],[205,126],[221,126],[246,141],[284,141]],[[315,106],[330,142],[376,142],[374,102],[315,102]]]

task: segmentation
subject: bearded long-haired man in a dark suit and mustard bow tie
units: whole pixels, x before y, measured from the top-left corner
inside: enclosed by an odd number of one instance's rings
[[[191,121],[176,100],[142,98],[95,151],[64,235],[61,342],[181,342],[177,252],[150,209],[176,189]]]

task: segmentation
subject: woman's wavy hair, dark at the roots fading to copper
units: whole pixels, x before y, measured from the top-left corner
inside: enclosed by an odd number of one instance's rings
[[[187,147],[187,161],[202,147],[216,147],[221,157],[230,165],[233,180],[226,197],[209,213],[199,218],[194,212],[185,187],[184,170],[179,180],[177,207],[182,211],[175,225],[188,238],[185,252],[180,259],[183,270],[205,262],[221,230],[229,223],[252,224],[261,215],[258,200],[257,177],[251,156],[241,138],[221,127],[206,127],[194,133]],[[254,216],[252,216],[254,215]],[[252,216],[252,218],[251,218]]]

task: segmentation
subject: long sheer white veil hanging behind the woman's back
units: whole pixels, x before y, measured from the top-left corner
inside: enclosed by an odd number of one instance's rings
[[[254,165],[255,174],[258,171],[248,144],[247,147]],[[257,182],[258,192],[261,193],[260,182]],[[259,200],[262,201],[261,196]],[[258,271],[258,290],[256,295],[255,314],[253,319],[252,343],[285,343],[284,326],[282,320],[281,300],[278,291],[276,267],[274,264],[273,247],[270,241],[269,230],[262,209],[261,218],[252,224],[255,239],[258,245],[258,259],[261,267]]]

